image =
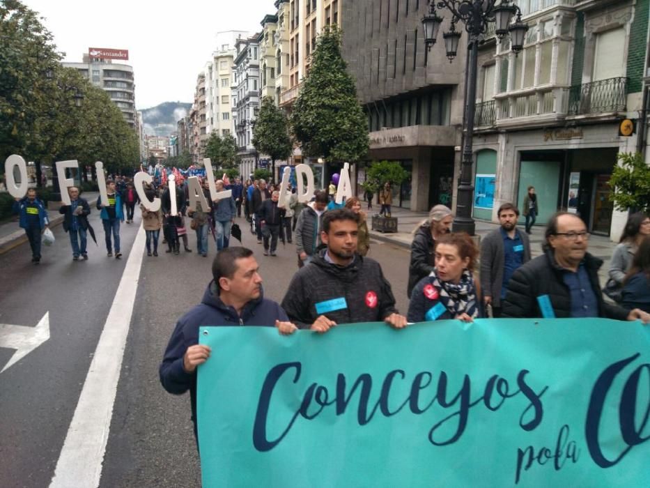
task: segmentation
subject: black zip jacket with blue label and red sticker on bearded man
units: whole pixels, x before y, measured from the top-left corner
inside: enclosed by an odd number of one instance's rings
[[[352,263],[341,267],[327,262],[325,252],[320,250],[289,284],[282,308],[293,323],[309,328],[320,315],[336,323],[378,322],[398,313],[377,261],[355,254]]]

